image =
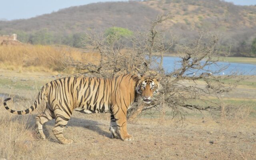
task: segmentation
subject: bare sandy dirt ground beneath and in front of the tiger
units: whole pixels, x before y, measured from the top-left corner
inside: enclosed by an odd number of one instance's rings
[[[74,144],[54,142],[53,123],[46,125],[50,134],[43,146],[49,146],[48,159],[182,159],[240,160],[256,158],[256,130],[253,123],[244,122],[235,128],[220,127],[210,119],[189,118],[186,126],[159,126],[142,119],[128,124],[134,141],[111,139],[109,120],[84,118],[75,113],[64,134]]]

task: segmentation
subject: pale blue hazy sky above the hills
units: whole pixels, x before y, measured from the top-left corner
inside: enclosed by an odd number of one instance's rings
[[[127,0],[0,0],[0,19],[26,19],[70,6]],[[256,0],[226,0],[237,5],[256,5]]]

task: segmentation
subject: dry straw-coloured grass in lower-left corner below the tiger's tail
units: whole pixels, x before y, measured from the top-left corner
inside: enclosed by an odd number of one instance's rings
[[[33,116],[10,114],[4,109],[2,99],[0,104],[0,158],[28,160],[43,157],[43,146],[35,143],[37,136]],[[13,105],[12,102],[9,104]],[[20,109],[23,109],[22,106]]]

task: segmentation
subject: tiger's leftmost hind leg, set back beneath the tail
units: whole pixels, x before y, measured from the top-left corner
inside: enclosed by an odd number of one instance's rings
[[[54,118],[54,113],[49,108],[46,108],[42,114],[36,116],[36,131],[39,138],[43,140],[46,138],[43,132],[43,124]]]

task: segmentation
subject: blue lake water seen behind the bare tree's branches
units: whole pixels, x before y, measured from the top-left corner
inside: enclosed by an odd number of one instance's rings
[[[173,72],[173,70],[178,69],[181,67],[180,61],[181,59],[178,57],[164,57],[163,67],[167,73]],[[203,63],[204,61],[202,61]],[[220,70],[223,67],[227,67],[225,70],[214,73]],[[210,70],[212,74],[220,74],[220,75],[229,75],[234,72],[238,72],[239,74],[243,75],[253,75],[256,74],[256,65],[255,64],[244,64],[244,63],[229,63],[229,62],[217,62],[217,65],[210,65],[207,68],[205,67],[204,70],[190,70],[186,72],[187,75],[198,75],[202,72],[210,72],[206,71]]]

